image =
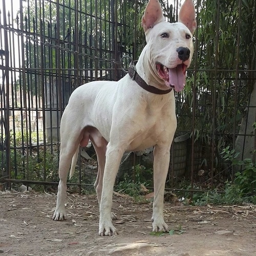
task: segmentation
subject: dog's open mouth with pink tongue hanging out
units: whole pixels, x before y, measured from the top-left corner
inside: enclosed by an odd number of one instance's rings
[[[166,68],[161,63],[157,63],[156,68],[158,75],[164,80],[166,86],[173,87],[177,92],[183,90],[187,69],[185,64],[179,64],[175,68]]]

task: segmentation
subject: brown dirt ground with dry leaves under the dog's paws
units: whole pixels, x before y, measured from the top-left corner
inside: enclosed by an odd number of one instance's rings
[[[0,191],[0,255],[256,255],[256,206],[174,206],[174,234],[151,234],[152,204],[114,195],[119,232],[98,235],[95,195],[69,194],[67,221],[52,221],[56,195]]]

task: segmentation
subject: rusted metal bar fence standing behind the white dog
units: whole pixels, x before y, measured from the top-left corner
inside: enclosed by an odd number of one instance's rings
[[[220,1],[208,1],[218,10],[214,22],[208,24],[204,23],[204,1],[196,2],[196,50],[186,88],[176,95],[178,129],[167,185],[204,191],[226,179],[234,180],[239,168],[232,157],[255,163],[256,70],[253,60],[241,62],[241,52],[246,51],[241,43],[242,1],[230,1],[230,5],[237,2],[233,6],[237,12],[230,14],[232,21],[224,17],[225,10],[231,10],[229,4],[225,9]],[[59,122],[69,96],[81,84],[118,80],[124,75],[120,58],[136,59],[145,44],[139,13],[146,3],[2,0],[0,182],[9,187],[19,182],[57,184]],[[177,20],[180,1],[162,1],[162,5],[166,20]],[[230,22],[236,29],[233,34]],[[207,26],[212,27],[211,33]],[[227,43],[221,48],[220,41]],[[90,148],[87,153],[81,150],[79,171],[71,184],[93,184],[93,154]],[[139,156],[125,155],[121,168],[137,164],[150,168],[151,163],[148,150]],[[184,180],[190,181],[189,186],[180,185]]]

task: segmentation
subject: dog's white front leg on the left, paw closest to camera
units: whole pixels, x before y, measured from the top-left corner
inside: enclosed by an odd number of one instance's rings
[[[99,207],[99,235],[117,234],[112,224],[112,199],[116,175],[123,151],[120,148],[108,144],[106,150],[106,162],[103,175],[102,194]]]

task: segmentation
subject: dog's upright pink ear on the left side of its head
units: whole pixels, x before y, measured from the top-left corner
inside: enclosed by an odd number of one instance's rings
[[[142,17],[141,25],[146,32],[148,29],[153,28],[157,23],[163,22],[162,7],[158,0],[150,0],[145,9]]]

